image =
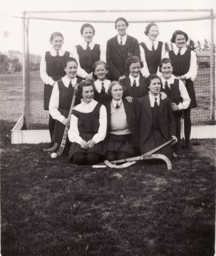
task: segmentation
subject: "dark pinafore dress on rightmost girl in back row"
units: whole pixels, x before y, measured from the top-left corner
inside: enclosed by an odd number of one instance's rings
[[[173,75],[176,77],[183,76],[190,68],[191,50],[187,49],[183,55],[175,55],[174,51],[169,51],[169,59],[171,59],[173,63]],[[194,82],[187,79],[185,87],[191,99],[189,108],[195,108],[197,106],[197,100]]]

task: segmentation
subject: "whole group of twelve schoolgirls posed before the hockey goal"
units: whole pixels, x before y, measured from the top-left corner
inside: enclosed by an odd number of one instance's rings
[[[84,43],[74,48],[73,57],[62,50],[63,36],[55,32],[50,38],[52,49],[41,60],[40,74],[45,82],[44,108],[50,110],[50,137],[58,145],[68,122],[74,91],[77,92],[68,131],[72,143],[66,144],[69,159],[76,164],[94,164],[102,156],[108,160],[128,158],[134,155],[137,146],[144,154],[170,138],[175,141],[178,138],[175,145],[178,153],[179,110],[196,106],[191,79],[192,73],[193,79],[196,77],[195,58],[185,50],[188,37],[183,31],[175,31],[171,39],[182,53],[173,50],[166,55],[169,58],[161,60],[165,47],[156,40],[159,34],[156,24],[147,26],[148,41],[138,48],[137,40],[126,34],[127,20],[118,18],[115,27],[118,35],[107,42],[108,64],[104,61],[102,47],[92,41],[95,30],[88,23],[81,28]],[[152,74],[159,71],[160,76]],[[110,82],[107,75],[118,81]],[[192,100],[188,92],[194,94]],[[190,149],[190,115],[187,117],[185,137]],[[165,147],[161,154],[172,158],[172,147]]]

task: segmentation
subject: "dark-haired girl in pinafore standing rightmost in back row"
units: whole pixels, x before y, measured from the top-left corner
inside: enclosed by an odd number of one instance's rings
[[[182,30],[176,30],[171,38],[174,43],[172,51],[167,53],[167,58],[173,63],[173,75],[176,79],[182,79],[185,83],[188,95],[191,99],[190,105],[183,110],[184,113],[184,135],[185,144],[188,150],[192,150],[190,145],[191,119],[190,110],[197,106],[197,100],[194,90],[194,79],[197,76],[197,57],[194,51],[186,48],[188,36]]]

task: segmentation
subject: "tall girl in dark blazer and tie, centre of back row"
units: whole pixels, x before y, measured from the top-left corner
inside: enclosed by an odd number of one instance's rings
[[[122,17],[115,22],[118,35],[107,41],[106,62],[109,66],[111,80],[125,78],[129,72],[125,66],[125,60],[130,56],[140,58],[139,43],[137,39],[126,34],[128,21]]]

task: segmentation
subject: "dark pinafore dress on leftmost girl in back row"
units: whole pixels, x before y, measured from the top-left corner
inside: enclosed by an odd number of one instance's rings
[[[69,52],[65,52],[63,56],[51,56],[50,51],[45,54],[47,75],[54,81],[62,79],[66,75],[63,70],[63,62],[70,55]],[[50,97],[53,86],[50,84],[44,84],[44,110],[49,110]]]

